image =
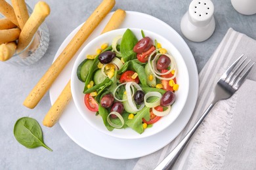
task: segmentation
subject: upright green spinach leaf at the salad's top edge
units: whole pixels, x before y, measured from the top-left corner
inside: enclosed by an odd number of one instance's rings
[[[136,58],[136,52],[133,51],[133,47],[137,44],[138,39],[135,37],[131,29],[127,29],[123,34],[120,44],[120,52],[123,57],[123,61],[129,61]]]

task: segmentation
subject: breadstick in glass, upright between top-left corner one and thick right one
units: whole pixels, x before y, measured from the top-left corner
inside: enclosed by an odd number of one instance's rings
[[[12,0],[12,7],[18,20],[18,25],[20,25],[20,29],[23,29],[24,25],[28,21],[30,17],[28,15],[28,9],[25,3],[25,0]]]

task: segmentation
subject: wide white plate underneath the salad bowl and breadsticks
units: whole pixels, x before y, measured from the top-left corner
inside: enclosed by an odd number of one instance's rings
[[[98,25],[93,34],[85,41],[83,46],[80,48],[79,52],[74,56],[74,58],[68,63],[65,69],[60,73],[58,78],[55,80],[53,86],[50,89],[51,103],[53,104],[58,95],[62,92],[64,86],[66,86],[68,80],[70,80],[72,66],[74,65],[75,58],[81,52],[81,49],[89,41],[100,35],[100,32],[104,28],[104,25],[108,22],[113,13],[108,14],[106,18]],[[81,25],[80,25],[81,26]],[[59,123],[66,134],[79,146],[105,158],[113,158],[118,160],[125,160],[131,158],[139,158],[156,152],[163,146],[167,145],[179,133],[182,131],[184,126],[186,126],[190,116],[196,105],[196,99],[198,97],[198,71],[194,57],[188,48],[186,42],[182,37],[169,25],[165,24],[161,20],[154,18],[153,16],[142,14],[140,12],[127,11],[127,16],[125,22],[121,25],[123,27],[140,27],[141,29],[148,29],[158,33],[168,39],[174,44],[174,46],[181,52],[184,56],[184,61],[188,68],[189,80],[190,80],[190,90],[188,93],[188,99],[186,101],[185,107],[182,110],[179,117],[160,133],[152,135],[150,137],[145,137],[143,139],[118,139],[116,137],[110,137],[97,131],[91,127],[83,119],[81,114],[75,108],[74,101],[71,100],[69,105],[66,107],[63,115],[61,116]],[[74,37],[75,33],[78,31],[77,27],[65,41],[62,43],[54,59],[58,57],[60,52],[65,48],[66,44]]]

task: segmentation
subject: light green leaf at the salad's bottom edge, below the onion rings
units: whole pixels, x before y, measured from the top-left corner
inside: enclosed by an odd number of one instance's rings
[[[127,120],[126,124],[141,134],[144,131],[142,126],[142,118],[145,120],[150,120],[150,108],[144,107],[142,110],[137,112],[137,114],[135,114],[133,119]]]

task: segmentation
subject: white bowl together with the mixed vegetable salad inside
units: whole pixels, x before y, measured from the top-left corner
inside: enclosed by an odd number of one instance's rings
[[[142,29],[117,29],[89,42],[71,78],[75,106],[91,126],[114,137],[160,132],[182,111],[188,70],[165,38]]]

